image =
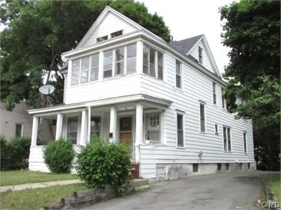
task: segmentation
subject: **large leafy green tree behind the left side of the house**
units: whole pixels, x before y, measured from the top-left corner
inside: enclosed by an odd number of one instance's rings
[[[107,5],[170,41],[162,17],[149,14],[143,3],[132,0],[1,1],[1,23],[7,26],[0,34],[1,99],[6,99],[9,110],[22,99],[35,108],[44,106],[46,99],[38,91],[44,75],[56,88],[53,104],[62,103],[61,54],[77,46]]]

